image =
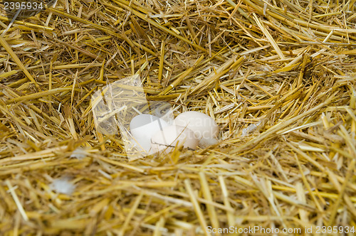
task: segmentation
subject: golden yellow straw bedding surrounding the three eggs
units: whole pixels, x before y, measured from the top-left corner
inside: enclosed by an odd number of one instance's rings
[[[352,235],[355,9],[60,0],[10,27],[2,11],[0,235]],[[221,142],[128,161],[90,96],[134,74]]]

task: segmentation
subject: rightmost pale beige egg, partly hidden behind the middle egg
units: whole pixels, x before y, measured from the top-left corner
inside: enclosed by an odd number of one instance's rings
[[[199,139],[199,146],[216,144],[219,126],[215,120],[201,112],[183,112],[174,119],[174,124],[191,129]]]

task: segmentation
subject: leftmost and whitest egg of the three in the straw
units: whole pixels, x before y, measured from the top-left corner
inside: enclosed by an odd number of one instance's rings
[[[139,114],[134,117],[130,122],[130,131],[137,149],[148,154],[152,136],[167,126],[167,122],[151,114]]]

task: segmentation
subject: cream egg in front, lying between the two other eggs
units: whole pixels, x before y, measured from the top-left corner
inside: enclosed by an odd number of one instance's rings
[[[163,128],[152,136],[152,151],[169,152],[174,149],[177,144],[182,144],[185,148],[197,149],[199,139],[194,132],[187,128],[177,125],[170,125]]]

